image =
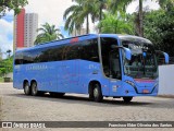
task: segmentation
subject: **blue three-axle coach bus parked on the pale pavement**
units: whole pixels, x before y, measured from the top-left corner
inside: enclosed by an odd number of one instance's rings
[[[88,34],[40,44],[14,55],[13,86],[26,95],[50,93],[88,94],[95,102],[103,97],[156,96],[159,87],[158,55],[146,38]]]

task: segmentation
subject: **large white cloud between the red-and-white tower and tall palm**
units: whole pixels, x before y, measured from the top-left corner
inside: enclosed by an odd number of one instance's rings
[[[46,22],[62,26],[63,13],[72,4],[72,0],[28,0],[25,9],[26,13],[38,13],[39,26]]]

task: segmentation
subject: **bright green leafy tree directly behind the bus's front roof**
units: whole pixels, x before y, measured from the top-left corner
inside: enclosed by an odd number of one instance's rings
[[[125,14],[105,13],[103,20],[99,23],[99,27],[101,26],[101,33],[134,34],[132,25],[125,17]]]

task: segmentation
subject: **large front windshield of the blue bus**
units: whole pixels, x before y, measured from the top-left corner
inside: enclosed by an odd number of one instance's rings
[[[156,79],[158,63],[152,44],[141,38],[122,39],[122,46],[129,48],[132,60],[123,55],[124,73],[134,79]]]

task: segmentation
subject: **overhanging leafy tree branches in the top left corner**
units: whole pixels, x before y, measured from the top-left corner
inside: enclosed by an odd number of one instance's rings
[[[0,0],[0,19],[10,10],[14,10],[14,15],[18,14],[27,3],[27,0]]]

